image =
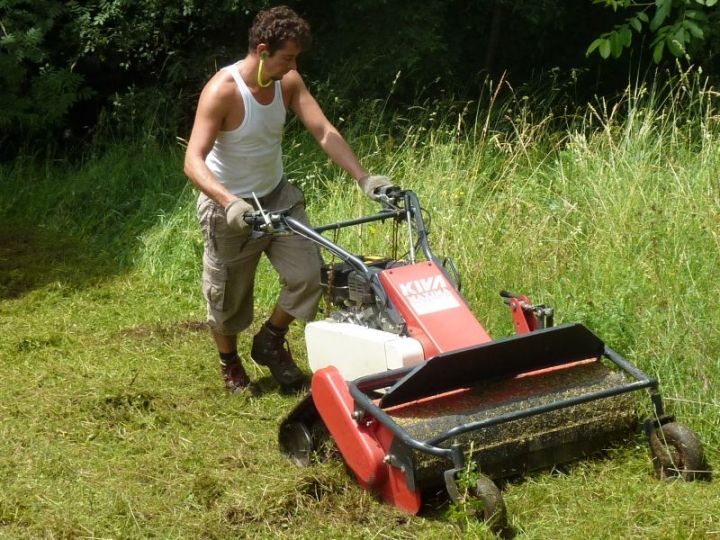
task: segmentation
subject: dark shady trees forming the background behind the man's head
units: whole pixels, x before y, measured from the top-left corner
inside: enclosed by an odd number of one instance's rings
[[[720,50],[710,34],[720,27],[720,0],[282,1],[312,26],[315,45],[300,67],[318,98],[333,103],[330,114],[346,115],[360,100],[390,109],[473,99],[487,76],[517,87],[574,68],[592,79],[573,79],[575,96],[583,85],[612,92],[626,70],[601,57],[621,56],[647,31],[658,58],[713,60]],[[254,14],[276,3],[0,0],[0,158],[55,142],[81,149],[109,132],[186,136],[203,83],[245,54]],[[588,60],[586,44],[598,35]]]

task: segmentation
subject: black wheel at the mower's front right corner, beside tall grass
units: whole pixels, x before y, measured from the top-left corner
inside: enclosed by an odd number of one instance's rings
[[[695,480],[707,474],[700,440],[683,424],[670,422],[654,430],[650,450],[658,478]]]

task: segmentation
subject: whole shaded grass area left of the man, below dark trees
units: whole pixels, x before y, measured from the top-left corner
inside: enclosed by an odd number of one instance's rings
[[[163,264],[174,257],[189,238],[182,212],[194,203],[182,156],[142,140],[113,143],[78,164],[32,155],[2,164],[0,299],[121,275],[148,248],[148,235],[151,255]]]

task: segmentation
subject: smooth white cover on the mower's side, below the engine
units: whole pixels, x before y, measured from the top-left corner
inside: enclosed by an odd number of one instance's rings
[[[422,345],[416,339],[331,320],[308,323],[305,343],[313,373],[335,366],[346,381],[424,360]]]

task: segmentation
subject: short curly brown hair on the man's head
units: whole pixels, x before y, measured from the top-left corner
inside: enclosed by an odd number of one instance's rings
[[[310,48],[310,25],[287,6],[263,10],[255,16],[248,34],[250,52],[260,43],[266,43],[270,54],[293,41],[301,51]]]

